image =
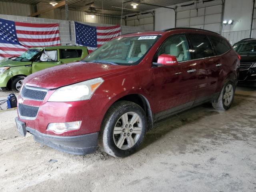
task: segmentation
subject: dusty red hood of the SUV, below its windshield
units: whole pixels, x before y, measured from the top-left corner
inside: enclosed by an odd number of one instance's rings
[[[33,87],[55,89],[62,86],[102,77],[127,69],[128,66],[90,62],[62,64],[33,73],[24,84]]]

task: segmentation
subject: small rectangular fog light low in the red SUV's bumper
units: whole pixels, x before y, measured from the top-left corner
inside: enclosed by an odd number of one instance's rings
[[[78,130],[80,128],[81,121],[66,122],[66,123],[50,123],[47,130],[53,131],[56,134],[62,134],[67,131]]]

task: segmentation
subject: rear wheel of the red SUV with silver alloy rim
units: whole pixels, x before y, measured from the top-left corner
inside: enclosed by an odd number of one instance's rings
[[[212,106],[217,110],[228,110],[233,103],[236,86],[234,82],[228,81],[223,86],[217,101],[212,102]]]

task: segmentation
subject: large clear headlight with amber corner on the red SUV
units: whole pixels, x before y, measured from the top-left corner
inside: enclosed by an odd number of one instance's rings
[[[91,79],[57,89],[48,101],[68,102],[90,99],[95,90],[104,82],[102,78]]]

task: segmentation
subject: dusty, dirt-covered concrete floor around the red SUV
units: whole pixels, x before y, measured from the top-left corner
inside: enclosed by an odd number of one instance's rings
[[[0,191],[255,192],[256,96],[243,91],[228,111],[204,104],[161,120],[126,158],[58,152],[20,136],[15,110],[0,112]]]

